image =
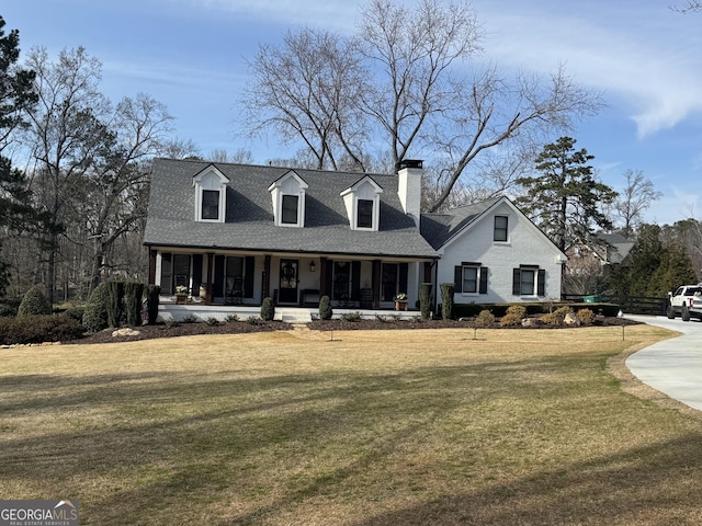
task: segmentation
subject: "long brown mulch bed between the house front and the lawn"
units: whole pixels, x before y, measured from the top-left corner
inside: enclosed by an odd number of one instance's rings
[[[638,324],[637,321],[629,320],[626,318],[599,318],[596,322],[598,327],[605,325],[632,325]],[[393,319],[385,320],[316,320],[312,323],[307,323],[307,327],[317,331],[353,331],[353,330],[396,330],[396,329],[468,329],[471,323],[468,321],[457,320],[430,320],[430,321],[400,321]],[[564,325],[539,325],[536,329],[559,329]],[[582,325],[585,327],[585,325]],[[500,329],[498,323],[495,323],[490,329]],[[530,330],[532,328],[522,328],[521,325],[514,325],[506,329],[511,330]],[[156,325],[143,325],[135,328],[138,334],[113,336],[114,329],[106,329],[101,332],[88,333],[80,340],[72,340],[71,344],[90,344],[90,343],[115,343],[115,342],[132,342],[136,340],[150,340],[155,338],[178,338],[190,336],[197,334],[246,334],[253,332],[271,332],[271,331],[288,331],[292,330],[292,325],[280,321],[259,321],[258,324],[249,323],[248,321],[233,321],[226,323],[219,323],[216,325],[210,325],[205,322],[199,323],[179,323],[179,324],[156,324]]]

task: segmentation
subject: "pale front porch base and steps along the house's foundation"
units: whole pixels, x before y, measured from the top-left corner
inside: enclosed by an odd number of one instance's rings
[[[340,319],[344,315],[359,313],[362,319],[373,320],[376,317],[393,317],[406,320],[412,320],[420,315],[419,310],[392,310],[392,309],[358,309],[358,308],[339,308],[333,307],[332,319]],[[212,318],[218,321],[227,321],[229,317],[236,316],[239,321],[246,321],[249,318],[260,318],[260,306],[247,305],[204,305],[188,304],[178,305],[173,302],[160,304],[158,307],[158,321],[178,321],[182,322],[191,317],[195,321],[204,322]],[[318,307],[275,307],[276,321],[286,323],[308,323],[319,318]]]

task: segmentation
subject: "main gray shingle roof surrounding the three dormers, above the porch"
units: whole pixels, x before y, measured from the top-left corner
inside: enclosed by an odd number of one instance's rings
[[[199,222],[193,176],[208,165],[229,179],[226,220]],[[380,231],[353,231],[339,195],[358,172],[294,169],[308,185],[305,228],[276,227],[269,186],[290,168],[157,159],[151,176],[144,242],[193,247],[398,258],[435,258],[397,195],[397,175],[372,174],[383,188]]]

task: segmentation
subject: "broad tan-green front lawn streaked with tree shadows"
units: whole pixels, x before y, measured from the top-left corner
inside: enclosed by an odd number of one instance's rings
[[[631,395],[607,365],[668,335],[0,350],[0,498],[78,499],[81,525],[100,526],[698,525],[702,419]]]

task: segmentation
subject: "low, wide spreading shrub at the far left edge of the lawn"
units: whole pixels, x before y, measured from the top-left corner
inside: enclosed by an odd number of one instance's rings
[[[64,315],[1,318],[0,344],[66,342],[81,338],[84,330],[78,321]]]

